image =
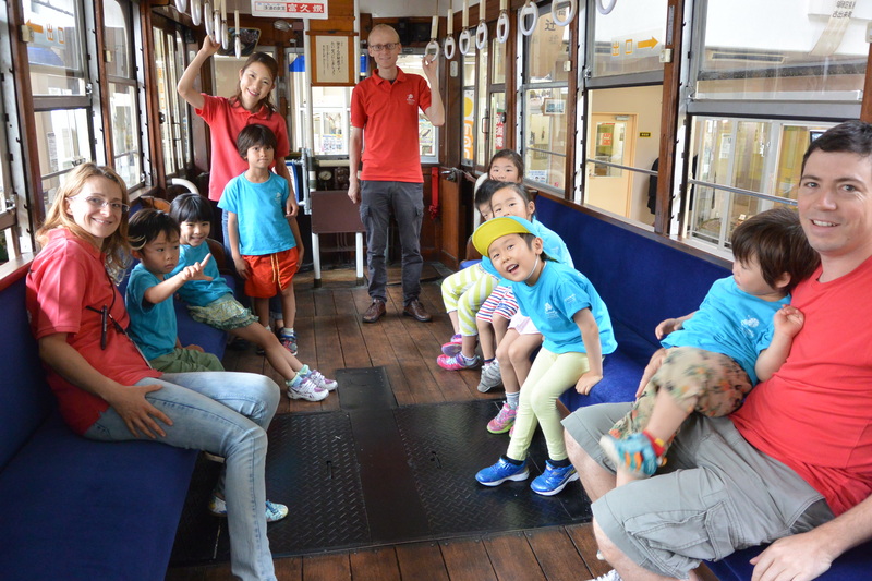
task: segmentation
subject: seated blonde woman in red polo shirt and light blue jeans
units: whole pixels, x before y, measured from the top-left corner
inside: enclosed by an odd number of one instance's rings
[[[83,164],[37,232],[43,250],[27,275],[26,304],[48,384],[64,421],[86,438],[150,438],[222,456],[209,510],[228,517],[232,572],[275,580],[266,523],[288,507],[266,499],[264,471],[278,386],[250,373],[148,366],[124,330],[130,318],[113,280],[130,255],[129,204],[111,168]]]

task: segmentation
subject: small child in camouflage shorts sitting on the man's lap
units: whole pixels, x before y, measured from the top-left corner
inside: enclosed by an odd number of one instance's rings
[[[692,412],[736,411],[759,380],[778,371],[802,328],[790,291],[819,256],[797,213],[758,214],[736,227],[730,243],[732,276],[712,285],[699,311],[657,325],[663,348],[645,368],[633,409],[600,441],[618,485],[654,474]]]

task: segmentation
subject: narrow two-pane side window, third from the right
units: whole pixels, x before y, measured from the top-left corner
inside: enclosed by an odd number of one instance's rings
[[[541,7],[536,27],[524,38],[521,86],[524,116],[519,145],[523,149],[526,178],[561,193],[567,183],[570,126],[567,116],[569,39],[569,26],[558,26],[554,22],[550,5]]]

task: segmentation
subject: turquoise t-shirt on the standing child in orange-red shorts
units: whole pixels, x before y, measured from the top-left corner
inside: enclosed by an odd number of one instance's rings
[[[296,240],[284,217],[288,181],[275,173],[264,183],[250,182],[237,175],[225,187],[218,207],[237,215],[239,253],[264,256],[296,246]]]

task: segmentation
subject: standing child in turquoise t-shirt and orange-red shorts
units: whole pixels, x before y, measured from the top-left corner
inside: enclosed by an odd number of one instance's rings
[[[288,222],[293,208],[288,181],[269,170],[276,135],[266,125],[247,125],[237,137],[237,150],[249,169],[228,182],[218,203],[228,213],[228,246],[245,281],[245,294],[254,300],[254,312],[266,328],[269,299],[280,295],[284,328],[279,341],[295,355],[293,276],[300,268],[300,255]]]

